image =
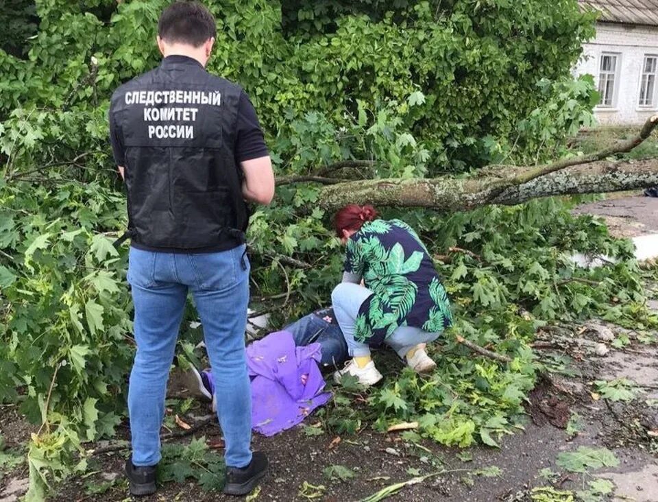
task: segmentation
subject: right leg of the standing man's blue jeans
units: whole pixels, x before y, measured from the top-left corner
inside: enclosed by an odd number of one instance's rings
[[[215,380],[226,466],[239,468],[252,460],[252,394],[245,352],[249,264],[245,256],[243,268],[243,252],[244,246],[239,246],[219,253],[184,255],[195,276],[191,289]]]

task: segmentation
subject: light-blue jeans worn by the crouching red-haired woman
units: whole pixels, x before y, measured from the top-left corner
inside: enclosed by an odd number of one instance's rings
[[[368,344],[357,342],[354,339],[354,323],[358,315],[358,309],[367,298],[373,294],[370,289],[353,283],[340,283],[331,294],[331,302],[338,324],[341,326],[345,342],[352,357],[363,357],[370,355]],[[428,333],[420,328],[411,326],[400,326],[384,340],[400,357],[404,356],[417,346],[427,342],[433,342],[441,333]]]

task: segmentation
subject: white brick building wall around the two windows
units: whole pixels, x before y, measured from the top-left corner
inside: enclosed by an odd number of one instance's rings
[[[647,54],[658,56],[658,27],[597,23],[596,38],[583,45],[583,56],[574,73],[594,75],[598,86],[601,53],[620,53],[620,71],[616,82],[616,99],[611,108],[597,106],[594,115],[602,125],[644,123],[658,110],[658,95],[653,106],[639,106],[642,65]]]

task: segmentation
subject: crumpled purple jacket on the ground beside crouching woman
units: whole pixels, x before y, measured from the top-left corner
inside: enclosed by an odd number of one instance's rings
[[[320,344],[295,347],[287,331],[270,333],[247,347],[254,431],[270,436],[290,429],[329,401],[317,366],[320,350]]]

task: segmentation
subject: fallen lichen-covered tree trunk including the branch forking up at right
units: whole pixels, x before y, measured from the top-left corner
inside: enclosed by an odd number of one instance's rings
[[[520,204],[550,195],[601,193],[658,185],[658,159],[606,160],[630,152],[658,125],[648,119],[633,138],[587,156],[533,166],[485,168],[478,177],[387,179],[339,182],[324,187],[320,201],[326,208],[345,204],[425,207],[440,211],[467,211],[486,204]]]

